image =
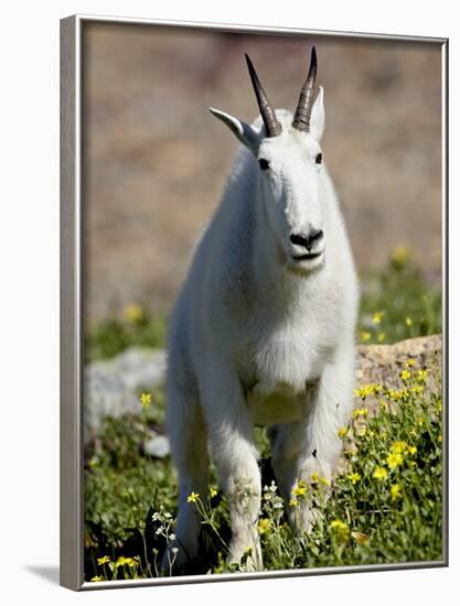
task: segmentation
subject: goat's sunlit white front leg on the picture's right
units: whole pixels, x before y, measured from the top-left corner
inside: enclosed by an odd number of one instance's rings
[[[354,358],[349,355],[328,365],[319,381],[308,388],[298,435],[297,481],[310,485],[315,475],[320,485],[324,479],[324,484],[331,481],[342,448],[338,432],[353,409],[353,383]],[[307,502],[301,500],[296,511],[296,524],[303,532],[310,531],[318,516],[318,510]]]

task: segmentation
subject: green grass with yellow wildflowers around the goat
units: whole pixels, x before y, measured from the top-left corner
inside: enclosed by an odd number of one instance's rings
[[[363,279],[363,286],[357,333],[371,335],[364,335],[364,342],[392,343],[440,332],[440,293],[424,283],[407,255],[403,259],[395,253],[385,271]],[[133,311],[92,328],[88,359],[115,355],[132,344],[163,345],[164,316],[158,321],[145,310]],[[269,444],[265,431],[256,430],[266,486],[259,532],[267,570],[441,558],[438,375],[434,364],[428,374],[408,366],[397,390],[385,386],[363,389],[362,408],[341,432],[342,472],[332,485],[318,477],[306,490],[298,487],[291,504],[282,502],[271,485]],[[141,446],[149,428],[161,428],[163,419],[164,394],[159,389],[141,415],[107,419],[92,445],[85,465],[87,580],[158,575],[161,554],[174,532],[176,475],[169,457],[153,459]],[[374,476],[377,468],[384,469],[381,478],[378,473]],[[195,504],[203,532],[201,563],[193,573],[238,569],[225,562],[228,508],[217,486],[212,469],[210,494],[200,495]],[[314,502],[321,515],[312,532],[298,538],[286,512],[302,507],[302,501]]]

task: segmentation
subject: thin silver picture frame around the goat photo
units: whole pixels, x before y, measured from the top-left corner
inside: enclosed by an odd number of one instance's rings
[[[84,475],[83,475],[83,320],[82,320],[82,32],[86,23],[125,23],[157,28],[184,28],[214,32],[265,33],[292,36],[338,36],[424,42],[442,53],[442,394],[443,394],[443,519],[442,560],[260,573],[174,576],[152,580],[84,581]],[[126,19],[78,14],[61,20],[61,585],[73,591],[149,585],[275,578],[425,569],[448,565],[448,39],[379,35],[301,29],[228,25],[151,19]]]

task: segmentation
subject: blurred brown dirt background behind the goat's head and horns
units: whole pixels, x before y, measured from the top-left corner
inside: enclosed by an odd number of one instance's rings
[[[440,281],[440,46],[93,22],[83,63],[89,318],[132,302],[169,310],[237,149],[208,106],[255,118],[247,52],[271,102],[293,109],[313,43],[324,161],[360,270],[406,245]]]

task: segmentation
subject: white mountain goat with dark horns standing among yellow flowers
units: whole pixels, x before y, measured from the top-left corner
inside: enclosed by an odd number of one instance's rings
[[[274,425],[272,468],[289,500],[299,480],[331,477],[352,410],[359,286],[320,147],[315,51],[293,116],[272,109],[246,61],[261,118],[247,125],[211,108],[244,147],[170,323],[167,428],[180,497],[163,569],[174,558],[174,572],[197,556],[188,497],[207,498],[208,445],[228,500],[228,561],[250,548],[247,570],[263,570],[254,425]],[[308,532],[313,520],[303,505],[291,522]]]

